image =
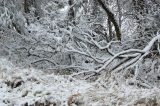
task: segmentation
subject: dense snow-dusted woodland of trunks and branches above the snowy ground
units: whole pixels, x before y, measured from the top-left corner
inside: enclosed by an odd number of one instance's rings
[[[121,89],[122,85],[159,89],[160,1],[0,0],[0,58],[20,69],[41,70],[42,76],[54,74],[96,83],[106,92],[108,87]],[[11,88],[25,83],[19,77],[6,82]],[[160,105],[160,99],[143,99],[122,100],[121,104],[109,100],[109,106],[135,106],[139,100],[145,101],[143,106]],[[67,105],[72,106],[69,100]]]

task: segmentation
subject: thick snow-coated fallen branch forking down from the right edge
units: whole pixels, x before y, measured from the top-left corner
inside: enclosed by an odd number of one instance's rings
[[[119,72],[122,69],[127,69],[127,68],[130,68],[130,67],[134,67],[136,64],[138,64],[139,61],[141,61],[145,56],[147,56],[150,53],[150,50],[151,50],[152,46],[154,45],[154,43],[158,39],[160,39],[160,34],[157,34],[157,36],[154,37],[143,50],[129,49],[129,50],[122,51],[120,53],[115,54],[111,59],[106,61],[101,68],[99,68],[97,70],[92,70],[92,71],[79,72],[79,73],[73,74],[72,76],[77,76],[77,75],[80,75],[80,74],[85,75],[87,73],[91,73],[91,74],[94,73],[94,75],[95,74],[98,75],[103,70],[105,70],[107,68],[107,66],[109,66],[119,56],[125,57],[125,59],[123,60],[124,63],[121,62],[121,63],[117,64],[116,66],[114,66],[114,68],[112,68],[110,70],[110,72],[112,71],[113,73],[116,73],[116,72]]]

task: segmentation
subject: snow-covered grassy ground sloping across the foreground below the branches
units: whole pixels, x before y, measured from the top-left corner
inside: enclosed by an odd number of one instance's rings
[[[0,59],[0,106],[160,106],[158,88],[118,85],[114,78],[102,83],[20,69]]]

